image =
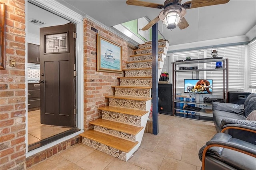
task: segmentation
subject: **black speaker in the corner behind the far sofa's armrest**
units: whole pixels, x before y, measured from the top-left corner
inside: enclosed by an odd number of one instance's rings
[[[250,92],[244,91],[229,91],[228,92],[228,103],[235,103],[238,105],[244,104],[244,101],[250,95]]]

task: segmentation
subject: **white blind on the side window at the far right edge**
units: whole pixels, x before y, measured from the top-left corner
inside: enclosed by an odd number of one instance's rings
[[[249,88],[256,89],[256,40],[249,43]]]

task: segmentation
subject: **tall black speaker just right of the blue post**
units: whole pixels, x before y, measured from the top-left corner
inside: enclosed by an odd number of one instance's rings
[[[158,84],[158,113],[172,115],[172,84]]]

